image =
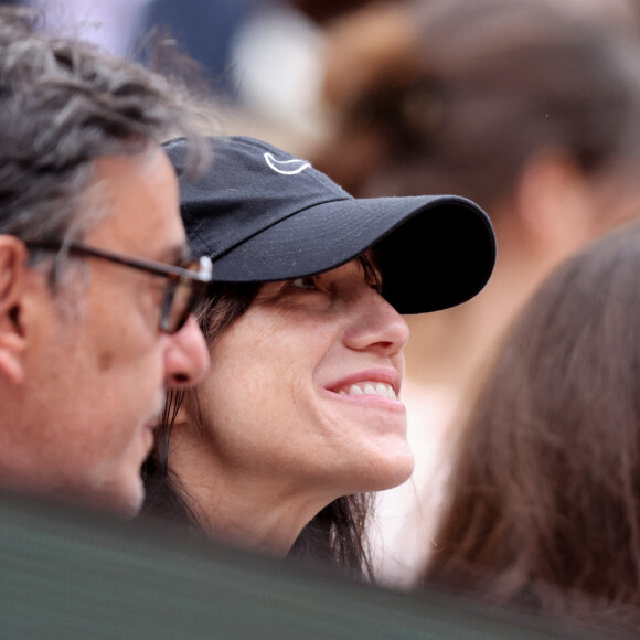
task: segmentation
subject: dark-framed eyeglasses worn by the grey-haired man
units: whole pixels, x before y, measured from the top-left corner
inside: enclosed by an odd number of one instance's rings
[[[89,247],[82,243],[28,242],[25,245],[34,249],[64,252],[71,256],[89,256],[109,260],[110,263],[167,278],[169,282],[162,297],[162,311],[160,313],[160,330],[164,333],[175,333],[182,329],[195,305],[204,295],[213,273],[213,266],[207,256],[174,266],[116,254]]]

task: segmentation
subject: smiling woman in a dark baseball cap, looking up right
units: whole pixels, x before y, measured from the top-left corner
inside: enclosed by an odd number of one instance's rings
[[[198,183],[182,175],[184,141],[167,146],[191,248],[213,260],[199,314],[213,367],[168,403],[147,511],[360,575],[363,493],[413,469],[399,312],[476,295],[493,268],[491,225],[465,199],[359,201],[265,142],[212,146]]]

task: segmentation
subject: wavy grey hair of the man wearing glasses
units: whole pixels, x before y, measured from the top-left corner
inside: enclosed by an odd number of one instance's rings
[[[196,141],[200,111],[184,88],[45,34],[39,18],[0,8],[0,233],[77,239],[96,218],[79,206],[93,161],[175,135]]]

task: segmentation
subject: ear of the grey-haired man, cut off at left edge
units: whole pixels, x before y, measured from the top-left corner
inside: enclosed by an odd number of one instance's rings
[[[21,306],[26,259],[26,247],[19,238],[0,234],[0,377],[11,384],[20,384],[24,377]]]

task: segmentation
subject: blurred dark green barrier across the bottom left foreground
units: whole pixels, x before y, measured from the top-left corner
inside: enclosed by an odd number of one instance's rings
[[[569,638],[442,594],[356,585],[157,523],[7,494],[0,572],[0,638],[11,640]]]

